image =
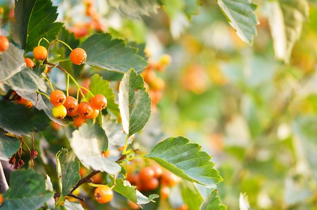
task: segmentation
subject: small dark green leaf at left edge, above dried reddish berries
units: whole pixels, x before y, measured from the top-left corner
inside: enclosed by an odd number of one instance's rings
[[[19,148],[20,140],[7,136],[0,130],[0,160],[8,161],[11,155],[18,151]]]

